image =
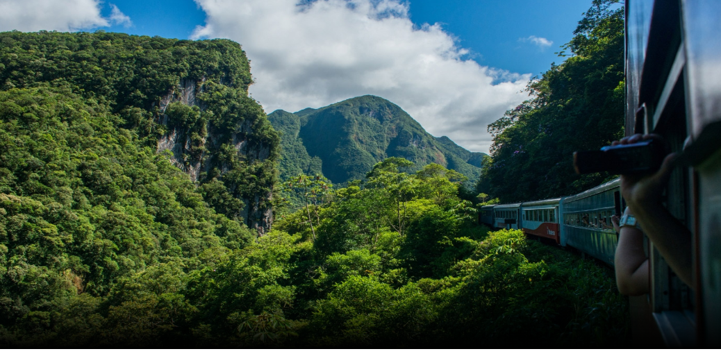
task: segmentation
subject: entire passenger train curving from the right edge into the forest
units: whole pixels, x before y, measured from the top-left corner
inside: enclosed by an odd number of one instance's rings
[[[632,335],[645,347],[718,348],[721,1],[626,0],[624,6],[626,135],[657,133],[681,153],[663,198],[691,232],[691,250],[681,253],[693,264],[693,282],[686,285],[646,239],[650,293],[630,298]],[[623,204],[615,180],[571,197],[484,207],[479,221],[521,228],[613,264],[618,241],[610,217]]]

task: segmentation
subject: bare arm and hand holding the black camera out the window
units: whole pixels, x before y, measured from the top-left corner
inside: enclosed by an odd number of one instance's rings
[[[614,145],[660,139],[659,135],[633,135]],[[666,156],[658,172],[647,176],[621,176],[621,192],[626,203],[653,246],[682,282],[694,288],[691,279],[691,231],[674,218],[661,203],[663,190],[673,171],[676,153]]]

